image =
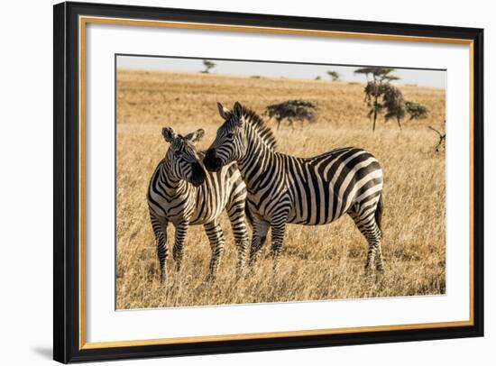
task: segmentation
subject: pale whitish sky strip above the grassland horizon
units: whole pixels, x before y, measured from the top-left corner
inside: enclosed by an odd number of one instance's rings
[[[216,67],[211,69],[212,74],[220,75],[247,75],[262,76],[272,78],[307,78],[314,79],[317,76],[323,79],[330,79],[326,71],[337,71],[340,78],[345,81],[364,82],[364,75],[354,75],[354,70],[363,65],[344,66],[344,65],[310,65],[310,64],[291,64],[275,63],[260,61],[238,61],[238,60],[217,60],[212,59]],[[432,69],[395,69],[393,75],[400,77],[400,80],[394,81],[395,84],[417,84],[421,87],[445,87],[446,71]],[[147,69],[147,70],[164,70],[179,72],[198,72],[205,69],[202,59],[176,59],[167,57],[150,57],[150,56],[117,56],[117,68],[123,69]]]

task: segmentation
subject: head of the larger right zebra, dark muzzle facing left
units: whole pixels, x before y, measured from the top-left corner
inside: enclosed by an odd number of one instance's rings
[[[242,159],[247,149],[243,106],[236,102],[233,111],[220,103],[217,103],[217,107],[224,124],[217,130],[216,140],[208,148],[203,160],[210,171],[218,171],[231,161]]]

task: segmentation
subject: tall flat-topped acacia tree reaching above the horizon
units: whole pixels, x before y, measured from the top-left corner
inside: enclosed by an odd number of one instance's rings
[[[362,74],[367,78],[367,85],[365,86],[363,92],[365,94],[365,102],[371,108],[368,116],[373,121],[372,131],[375,131],[377,116],[381,114],[384,108],[387,108],[385,105],[386,101],[382,101],[382,99],[384,98],[386,91],[389,90],[388,87],[390,87],[390,82],[400,79],[395,75],[391,75],[391,72],[393,71],[394,69],[381,67],[370,67],[354,70],[355,74]],[[392,100],[390,102],[392,103]],[[392,113],[393,111],[391,110],[389,112]],[[394,114],[391,114],[390,117],[392,115]]]

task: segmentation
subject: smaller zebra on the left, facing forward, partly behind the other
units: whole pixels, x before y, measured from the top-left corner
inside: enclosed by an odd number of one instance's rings
[[[206,173],[201,164],[204,154],[198,153],[194,146],[203,134],[204,130],[200,129],[183,137],[170,127],[162,129],[162,135],[170,147],[153,172],[147,195],[162,282],[167,279],[169,223],[176,229],[173,247],[176,271],[180,270],[189,225],[204,225],[212,250],[209,278],[215,279],[225,245],[224,233],[219,225],[224,209],[231,221],[238,248],[237,269],[243,270],[248,247],[244,222],[246,186],[235,163],[226,164],[216,173]]]

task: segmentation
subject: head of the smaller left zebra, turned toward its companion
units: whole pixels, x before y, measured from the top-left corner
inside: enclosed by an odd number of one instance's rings
[[[205,133],[201,128],[186,136],[177,134],[172,127],[162,128],[162,136],[170,143],[165,155],[169,166],[170,178],[185,179],[193,186],[198,187],[206,178],[206,173],[198,158],[194,142],[198,142]]]

